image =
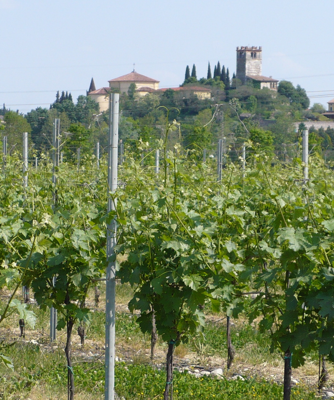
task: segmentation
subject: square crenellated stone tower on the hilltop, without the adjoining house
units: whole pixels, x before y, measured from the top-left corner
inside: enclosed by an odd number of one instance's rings
[[[236,48],[236,78],[242,84],[248,75],[262,75],[262,47],[241,46]]]

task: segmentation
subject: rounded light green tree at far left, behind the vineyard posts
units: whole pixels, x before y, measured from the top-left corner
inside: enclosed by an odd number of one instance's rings
[[[7,149],[8,152],[17,150],[22,152],[22,134],[28,132],[30,136],[31,126],[22,114],[15,111],[8,111],[4,115],[5,128],[2,130],[2,135],[7,136]]]

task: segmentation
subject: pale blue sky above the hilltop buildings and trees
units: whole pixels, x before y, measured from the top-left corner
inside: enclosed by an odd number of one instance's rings
[[[262,46],[262,73],[300,84],[311,103],[334,97],[334,4],[309,0],[0,0],[0,104],[26,113],[57,90],[76,99],[135,69],[178,86],[236,46]],[[326,92],[327,91],[327,92]]]

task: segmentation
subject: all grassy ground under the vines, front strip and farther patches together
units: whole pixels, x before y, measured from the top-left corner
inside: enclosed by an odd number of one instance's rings
[[[101,290],[102,292],[102,290]],[[131,297],[130,286],[118,285],[119,303],[126,303]],[[118,303],[118,304],[119,304]],[[36,329],[44,329],[48,333],[49,311],[40,310],[37,306],[30,306],[38,319]],[[118,363],[116,366],[116,391],[125,400],[157,400],[162,398],[165,384],[165,372],[153,369],[145,352],[138,349],[150,347],[150,336],[140,332],[136,323],[136,315],[127,312],[116,313],[116,345],[120,350],[126,348],[133,353],[131,364]],[[215,355],[225,358],[226,348],[226,318],[209,321],[205,328],[205,338],[201,335],[191,338],[186,346],[189,352],[197,353],[198,358]],[[235,321],[234,321],[235,322]],[[104,341],[104,311],[95,310],[92,313],[92,323],[86,327],[86,337],[94,342]],[[10,316],[6,321],[6,327],[18,326],[17,316]],[[34,337],[34,332],[28,329],[28,339]],[[75,334],[75,330],[74,330]],[[64,336],[64,333],[62,333]],[[279,359],[279,352],[270,354],[269,334],[262,334],[256,326],[250,326],[242,319],[232,325],[232,342],[236,348],[236,360],[248,362],[253,365]],[[48,342],[48,336],[44,335],[44,342]],[[39,338],[41,340],[41,338]],[[47,351],[48,347],[31,343],[3,342],[0,344],[0,352],[10,356],[14,360],[15,370],[10,372],[0,365],[0,400],[25,399],[34,392],[32,399],[46,398],[43,390],[63,398],[66,394],[66,358],[63,344],[57,343],[59,348]],[[166,346],[160,340],[157,343],[160,350],[166,350]],[[128,350],[127,350],[128,351]],[[132,353],[131,353],[132,352]],[[313,359],[316,355],[309,354]],[[136,358],[137,357],[137,358]],[[196,356],[195,356],[196,357]],[[74,382],[78,399],[102,398],[104,394],[104,365],[103,357],[97,362],[86,362],[73,356]],[[37,389],[36,389],[37,388]],[[35,391],[41,390],[39,396]],[[204,376],[196,378],[187,373],[175,372],[174,375],[174,400],[186,399],[213,399],[213,400],[278,400],[282,398],[282,386],[274,382],[260,380],[217,380]],[[81,394],[80,394],[81,393]],[[85,397],[91,394],[92,397]],[[19,397],[18,397],[19,396]],[[50,397],[47,397],[50,398]],[[53,397],[52,397],[53,398]],[[314,393],[310,388],[298,385],[293,388],[292,400],[314,399]]]

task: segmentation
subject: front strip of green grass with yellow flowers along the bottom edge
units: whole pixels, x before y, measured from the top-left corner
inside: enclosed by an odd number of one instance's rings
[[[22,348],[17,346],[13,352],[15,358],[22,356]],[[16,372],[12,376],[0,378],[0,388],[6,395],[0,398],[10,398],[14,393],[29,393],[29,389],[37,382],[49,389],[54,388],[54,393],[66,391],[66,362],[58,352],[48,354],[48,360],[42,356],[42,362],[35,364],[40,359],[38,346],[27,346],[26,356],[16,364]],[[103,364],[78,363],[74,364],[74,382],[76,392],[92,392],[96,398],[101,398],[104,393],[104,366]],[[3,371],[1,371],[3,372]],[[133,365],[118,363],[116,365],[116,392],[126,400],[153,400],[161,399],[166,382],[164,371],[158,371],[149,365]],[[281,385],[274,382],[250,380],[218,380],[216,378],[196,378],[188,373],[174,373],[173,390],[175,400],[186,399],[214,399],[214,400],[280,400],[282,399]],[[1,393],[1,390],[0,390]],[[6,396],[6,397],[4,397]],[[314,399],[314,393],[304,386],[292,389],[293,400]]]

